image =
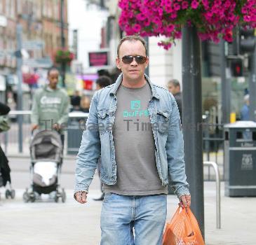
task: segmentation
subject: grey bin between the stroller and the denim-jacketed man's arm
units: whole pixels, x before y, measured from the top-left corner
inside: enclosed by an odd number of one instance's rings
[[[67,154],[76,155],[79,152],[87,118],[88,113],[79,111],[72,111],[69,113],[67,127]]]

